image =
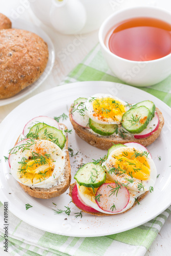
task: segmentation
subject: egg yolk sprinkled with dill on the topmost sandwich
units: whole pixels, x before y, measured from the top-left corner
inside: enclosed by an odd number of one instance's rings
[[[112,119],[113,121],[121,121],[123,114],[126,112],[125,106],[114,98],[96,98],[92,101],[93,116],[99,120]]]

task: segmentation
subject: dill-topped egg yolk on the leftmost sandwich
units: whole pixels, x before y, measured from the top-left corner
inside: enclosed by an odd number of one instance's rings
[[[17,175],[22,183],[33,185],[48,179],[52,175],[54,169],[52,159],[45,156],[43,162],[40,159],[24,159],[20,163]]]

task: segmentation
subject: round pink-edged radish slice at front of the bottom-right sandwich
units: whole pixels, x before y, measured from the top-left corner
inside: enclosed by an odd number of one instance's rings
[[[129,201],[129,191],[119,183],[104,183],[96,192],[96,203],[104,211],[120,212]]]

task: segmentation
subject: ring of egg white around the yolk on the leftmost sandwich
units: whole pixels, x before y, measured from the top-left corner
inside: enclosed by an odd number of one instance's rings
[[[28,155],[31,152],[36,153],[36,147],[42,148],[44,153],[49,154],[52,161],[54,161],[54,170],[52,175],[46,180],[42,180],[36,184],[27,184],[23,183],[18,178],[18,169],[20,168],[20,162],[23,157],[28,159]],[[30,187],[41,187],[41,188],[50,188],[53,185],[56,185],[57,182],[62,181],[62,175],[65,169],[65,151],[62,151],[58,145],[48,140],[35,140],[35,144],[30,146],[29,150],[20,150],[15,154],[11,162],[11,174],[12,176],[20,183],[30,186]]]

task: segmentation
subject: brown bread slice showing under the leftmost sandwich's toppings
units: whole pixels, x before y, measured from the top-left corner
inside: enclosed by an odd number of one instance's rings
[[[65,127],[65,130],[67,130],[66,125],[62,123],[59,123],[59,125],[63,125],[63,127]],[[65,181],[62,181],[60,184],[57,184],[56,186],[52,186],[51,188],[29,187],[18,182],[19,185],[25,190],[27,194],[36,198],[49,199],[49,198],[60,196],[69,188],[71,183],[71,166],[70,166],[70,158],[69,158],[69,152],[68,152],[68,134],[67,133],[66,133],[66,139],[67,141],[64,147],[66,150],[65,169],[64,169]]]

